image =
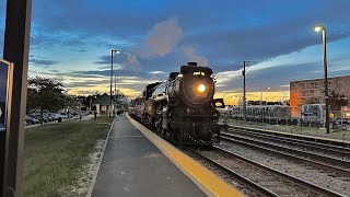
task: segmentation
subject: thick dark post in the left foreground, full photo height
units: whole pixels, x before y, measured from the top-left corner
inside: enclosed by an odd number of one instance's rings
[[[21,194],[31,16],[32,0],[7,1],[3,59],[14,67],[10,124],[0,134],[0,196],[4,197]]]

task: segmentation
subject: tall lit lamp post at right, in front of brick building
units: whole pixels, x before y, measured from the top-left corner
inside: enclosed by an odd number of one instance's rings
[[[326,104],[326,131],[329,134],[329,108],[328,108],[328,77],[327,77],[327,40],[325,25],[315,26],[316,32],[322,32],[322,42],[324,45],[324,71],[325,71],[325,104]]]

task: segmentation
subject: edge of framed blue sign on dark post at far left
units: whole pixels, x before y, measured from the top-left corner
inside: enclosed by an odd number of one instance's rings
[[[10,62],[0,59],[0,131],[7,128],[10,68]]]

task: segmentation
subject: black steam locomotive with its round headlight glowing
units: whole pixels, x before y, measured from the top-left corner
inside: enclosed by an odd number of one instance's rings
[[[213,100],[212,70],[188,62],[171,72],[164,82],[148,84],[142,96],[131,101],[131,116],[155,128],[172,142],[211,146],[219,142],[219,111],[222,99]]]

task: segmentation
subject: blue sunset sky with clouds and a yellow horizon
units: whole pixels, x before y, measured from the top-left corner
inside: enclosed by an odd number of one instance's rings
[[[217,96],[233,91],[225,97],[234,102],[246,60],[247,99],[281,100],[290,81],[324,77],[316,24],[327,30],[329,77],[350,74],[349,8],[349,0],[33,0],[28,74],[62,80],[70,94],[108,93],[110,49],[119,49],[114,73],[129,97],[198,61],[217,74]],[[0,37],[4,13],[0,0]]]

